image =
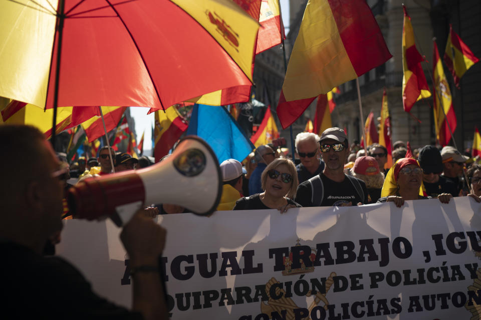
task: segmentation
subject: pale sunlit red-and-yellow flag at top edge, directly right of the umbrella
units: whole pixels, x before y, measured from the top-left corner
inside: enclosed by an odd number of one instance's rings
[[[256,54],[280,44],[286,38],[279,0],[262,1],[259,23],[261,27],[257,33]]]

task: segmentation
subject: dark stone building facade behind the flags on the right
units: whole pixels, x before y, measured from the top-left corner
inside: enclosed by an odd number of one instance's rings
[[[376,20],[393,55],[384,65],[372,69],[359,77],[364,123],[367,114],[374,112],[379,116],[383,88],[386,87],[389,111],[392,117],[392,139],[409,140],[413,147],[422,146],[435,141],[432,115],[432,97],[422,99],[411,109],[413,116],[404,112],[402,107],[402,3],[408,9],[415,33],[416,47],[426,56],[428,63],[422,67],[432,90],[432,38],[437,38],[440,55],[444,48],[449,31],[449,23],[470,47],[477,57],[481,57],[481,2],[479,0],[368,0]],[[290,1],[290,31],[287,35],[286,48],[292,50],[299,26],[302,21],[307,0]],[[445,68],[450,82],[453,105],[457,117],[454,137],[458,148],[470,147],[472,144],[474,125],[481,126],[481,114],[477,106],[481,101],[481,63],[474,64],[462,77],[461,89],[452,84],[452,77]],[[335,96],[337,103],[332,113],[334,126],[346,127],[349,139],[360,140],[359,105],[355,80],[340,86],[341,93]],[[313,103],[314,104],[314,103]],[[313,117],[315,105],[311,105],[305,115]],[[302,131],[306,117],[300,117],[293,125],[294,134]],[[376,121],[377,123],[377,121]],[[452,143],[452,142],[451,142]]]

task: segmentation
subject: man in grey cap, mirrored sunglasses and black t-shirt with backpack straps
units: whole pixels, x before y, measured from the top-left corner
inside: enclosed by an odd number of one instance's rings
[[[364,181],[344,173],[349,154],[346,133],[338,127],[322,132],[321,155],[324,170],[299,184],[295,201],[302,206],[346,206],[368,203]]]

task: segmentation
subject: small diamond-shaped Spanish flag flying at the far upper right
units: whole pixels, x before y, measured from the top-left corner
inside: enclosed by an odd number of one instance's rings
[[[459,88],[461,76],[479,59],[472,53],[459,35],[449,24],[449,35],[447,37],[446,50],[444,51],[444,63],[451,71],[454,84]]]

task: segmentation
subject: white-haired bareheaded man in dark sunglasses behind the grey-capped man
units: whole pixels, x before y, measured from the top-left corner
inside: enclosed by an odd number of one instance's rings
[[[309,180],[324,170],[324,161],[319,159],[319,135],[301,132],[296,135],[296,150],[301,163],[296,165],[299,183]]]

